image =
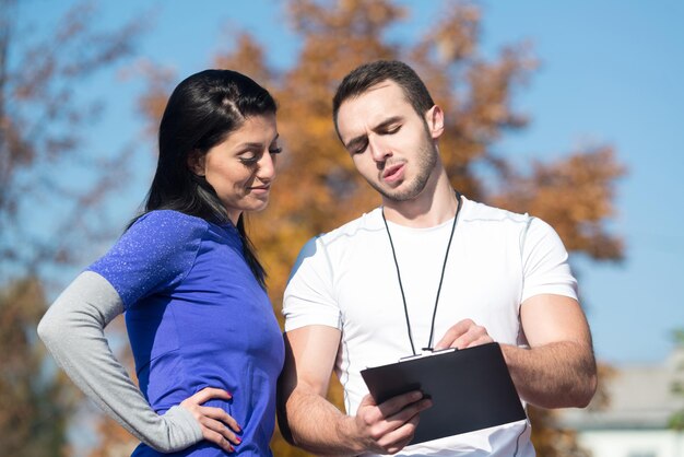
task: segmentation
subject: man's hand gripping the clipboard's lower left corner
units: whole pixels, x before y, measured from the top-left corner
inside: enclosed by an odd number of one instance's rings
[[[376,454],[396,454],[413,438],[421,411],[432,407],[420,391],[411,391],[376,405],[365,396],[354,419],[351,440],[358,440],[366,450]]]

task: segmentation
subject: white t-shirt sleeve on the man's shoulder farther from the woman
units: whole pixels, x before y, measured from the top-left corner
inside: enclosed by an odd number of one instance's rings
[[[521,302],[540,294],[577,300],[577,280],[558,234],[546,222],[531,218],[522,237],[523,289]]]

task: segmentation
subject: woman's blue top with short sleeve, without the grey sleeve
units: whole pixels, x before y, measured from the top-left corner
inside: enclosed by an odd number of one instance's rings
[[[93,263],[119,293],[140,389],[160,414],[203,389],[233,399],[204,406],[227,411],[243,429],[240,456],[270,456],[283,338],[266,291],[243,254],[233,224],[177,211],[152,211]],[[158,456],[141,444],[133,456]],[[174,456],[225,456],[202,441]]]

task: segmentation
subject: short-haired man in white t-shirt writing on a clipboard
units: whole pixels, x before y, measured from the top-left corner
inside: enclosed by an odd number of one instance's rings
[[[376,405],[359,372],[496,341],[522,401],[585,407],[595,362],[561,239],[453,190],[439,157],[444,113],[404,63],[352,71],[333,120],[382,206],[299,255],[283,305],[281,429],[325,455],[533,456],[528,421],[404,448],[431,401],[414,391]],[[333,367],[349,415],[325,398]]]

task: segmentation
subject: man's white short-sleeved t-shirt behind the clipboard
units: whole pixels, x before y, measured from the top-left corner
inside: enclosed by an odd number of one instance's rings
[[[429,228],[388,221],[413,342],[428,345],[453,220]],[[539,294],[577,298],[567,251],[545,222],[462,197],[439,295],[433,345],[462,319],[494,341],[526,345],[520,304]],[[335,372],[347,414],[368,392],[361,371],[411,355],[397,267],[381,209],[312,238],[302,249],[283,301],[285,331],[309,325],[342,332]],[[534,456],[528,421],[409,446],[399,456]]]

